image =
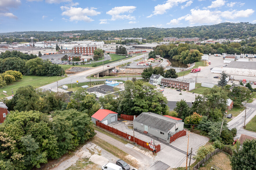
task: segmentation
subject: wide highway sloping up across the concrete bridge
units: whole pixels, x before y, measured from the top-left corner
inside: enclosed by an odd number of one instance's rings
[[[143,55],[145,55],[145,54],[143,54]],[[134,57],[134,58],[129,58],[127,60],[123,60],[123,63],[131,62],[133,60],[137,60],[138,58],[142,57],[143,55],[140,55],[140,56],[137,56],[137,57]],[[113,66],[119,65],[119,62],[113,62],[113,63],[107,64],[107,65],[109,65],[110,67],[113,67]],[[82,71],[80,73],[73,74],[73,75],[71,75],[67,78],[64,78],[64,79],[58,81],[58,86],[62,85],[62,84],[69,84],[69,83],[71,83],[71,81],[73,83],[76,82],[76,81],[78,81],[78,82],[88,82],[90,80],[86,79],[86,76],[98,73],[98,72],[102,71],[103,68],[107,69],[107,65],[98,66],[98,67],[95,67],[93,69],[89,69],[89,70],[86,70],[86,71]],[[117,78],[117,79],[120,79],[120,78]],[[127,78],[126,79],[122,78],[121,80],[127,80]],[[42,88],[44,90],[48,90],[49,87],[51,87],[52,91],[57,92],[57,82],[47,84],[47,85],[42,86],[40,88]]]

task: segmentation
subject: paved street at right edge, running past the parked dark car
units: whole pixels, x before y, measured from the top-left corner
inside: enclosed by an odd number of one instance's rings
[[[255,115],[256,115],[256,100],[254,100],[252,103],[247,103],[246,106],[246,122],[247,124]],[[251,132],[248,130],[243,129],[244,126],[244,116],[245,116],[245,110],[241,112],[237,117],[232,119],[230,122],[228,122],[228,127],[230,129],[236,128],[237,129],[237,135],[235,138],[240,138],[241,134],[253,136],[256,138],[256,133]]]

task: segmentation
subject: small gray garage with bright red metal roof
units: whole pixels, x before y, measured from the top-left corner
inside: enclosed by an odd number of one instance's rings
[[[96,124],[96,121],[100,121],[105,125],[108,125],[114,121],[117,121],[117,113],[108,109],[99,109],[91,116],[91,121]]]

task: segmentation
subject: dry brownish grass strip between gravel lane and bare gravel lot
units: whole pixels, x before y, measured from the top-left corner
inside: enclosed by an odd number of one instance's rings
[[[92,143],[95,145],[98,145],[102,149],[106,150],[107,152],[113,154],[114,156],[124,160],[126,163],[129,165],[138,168],[138,164],[134,164],[130,159],[127,159],[126,156],[128,155],[126,152],[122,151],[121,149],[107,143],[106,141],[103,141],[102,139],[94,136],[93,138],[90,139]]]

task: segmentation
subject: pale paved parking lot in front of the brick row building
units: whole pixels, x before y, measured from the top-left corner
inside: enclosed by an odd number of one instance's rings
[[[186,91],[176,91],[174,88],[160,88],[157,87],[159,90],[164,90],[163,95],[167,97],[168,101],[181,101],[181,99],[191,102],[195,99],[195,95],[198,94],[192,94],[191,92],[186,92]],[[182,95],[180,95],[180,93]]]

